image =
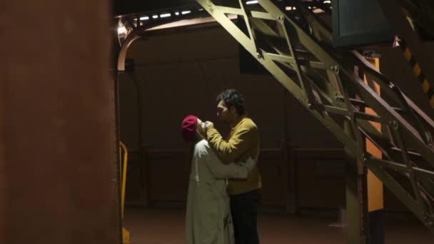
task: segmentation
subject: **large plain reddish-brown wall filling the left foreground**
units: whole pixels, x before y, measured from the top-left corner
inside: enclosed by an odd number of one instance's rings
[[[0,5],[0,243],[120,243],[109,1]]]

